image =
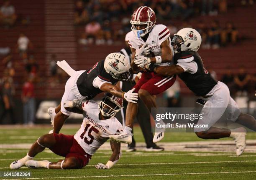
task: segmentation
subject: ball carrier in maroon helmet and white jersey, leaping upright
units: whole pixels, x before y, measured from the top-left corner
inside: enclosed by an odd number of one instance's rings
[[[155,25],[156,15],[147,6],[138,7],[131,18],[132,31],[128,33],[128,44],[131,47],[131,67],[133,72],[142,71],[140,80],[133,87],[141,100],[151,111],[156,107],[153,95],[160,94],[171,87],[175,80],[174,76],[162,76],[156,73],[146,72],[143,67],[149,63],[161,66],[170,65],[173,58],[173,48],[170,40],[170,32],[165,25]],[[137,103],[128,103],[125,117],[125,130],[121,135],[113,135],[110,138],[123,143],[131,143],[131,129],[133,120],[138,112]],[[153,142],[156,143],[164,137],[164,132],[155,133]]]

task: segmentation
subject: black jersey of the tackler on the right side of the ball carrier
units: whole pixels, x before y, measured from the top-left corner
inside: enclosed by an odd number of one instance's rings
[[[183,51],[174,55],[174,63],[178,62],[196,62],[197,71],[194,74],[189,72],[183,72],[179,74],[179,78],[185,82],[187,87],[192,90],[197,96],[207,95],[210,90],[217,84],[217,82],[211,77],[203,63],[200,55],[195,51]]]

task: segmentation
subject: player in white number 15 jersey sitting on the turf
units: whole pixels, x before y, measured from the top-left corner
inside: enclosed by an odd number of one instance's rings
[[[100,104],[95,101],[75,99],[74,102],[67,101],[71,111],[80,111],[84,115],[81,128],[75,135],[46,134],[38,138],[31,146],[28,154],[10,164],[11,169],[18,169],[23,165],[28,168],[48,168],[48,169],[78,169],[87,165],[95,151],[104,144],[109,135],[119,134],[123,130],[121,123],[114,117],[121,109],[123,100],[111,94],[105,94]],[[70,106],[70,104],[73,104]],[[120,158],[120,143],[110,141],[113,151],[109,161],[104,165],[97,164],[97,169],[110,169]],[[33,158],[41,153],[45,148],[49,148],[56,155],[65,157],[65,160],[49,162],[48,160],[36,161]]]

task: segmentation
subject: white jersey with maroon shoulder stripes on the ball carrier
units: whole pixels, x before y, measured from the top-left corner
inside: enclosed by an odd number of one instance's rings
[[[171,39],[170,39],[170,31],[165,25],[155,25],[154,28],[149,32],[148,38],[146,42],[143,41],[141,37],[138,37],[135,32],[130,31],[127,34],[128,44],[131,48],[136,49],[140,45],[147,43],[147,45],[150,47],[150,53],[151,57],[159,56],[161,55],[161,44],[166,39],[169,39],[169,44],[172,49],[172,54],[174,55],[173,47],[171,45]],[[171,65],[172,63],[162,63],[159,64],[160,66],[166,66]]]

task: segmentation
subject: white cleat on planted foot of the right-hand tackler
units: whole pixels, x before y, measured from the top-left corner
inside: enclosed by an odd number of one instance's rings
[[[234,140],[236,142],[236,155],[241,156],[243,151],[246,148],[246,129],[245,128],[237,128],[237,132],[239,133],[234,133]]]

